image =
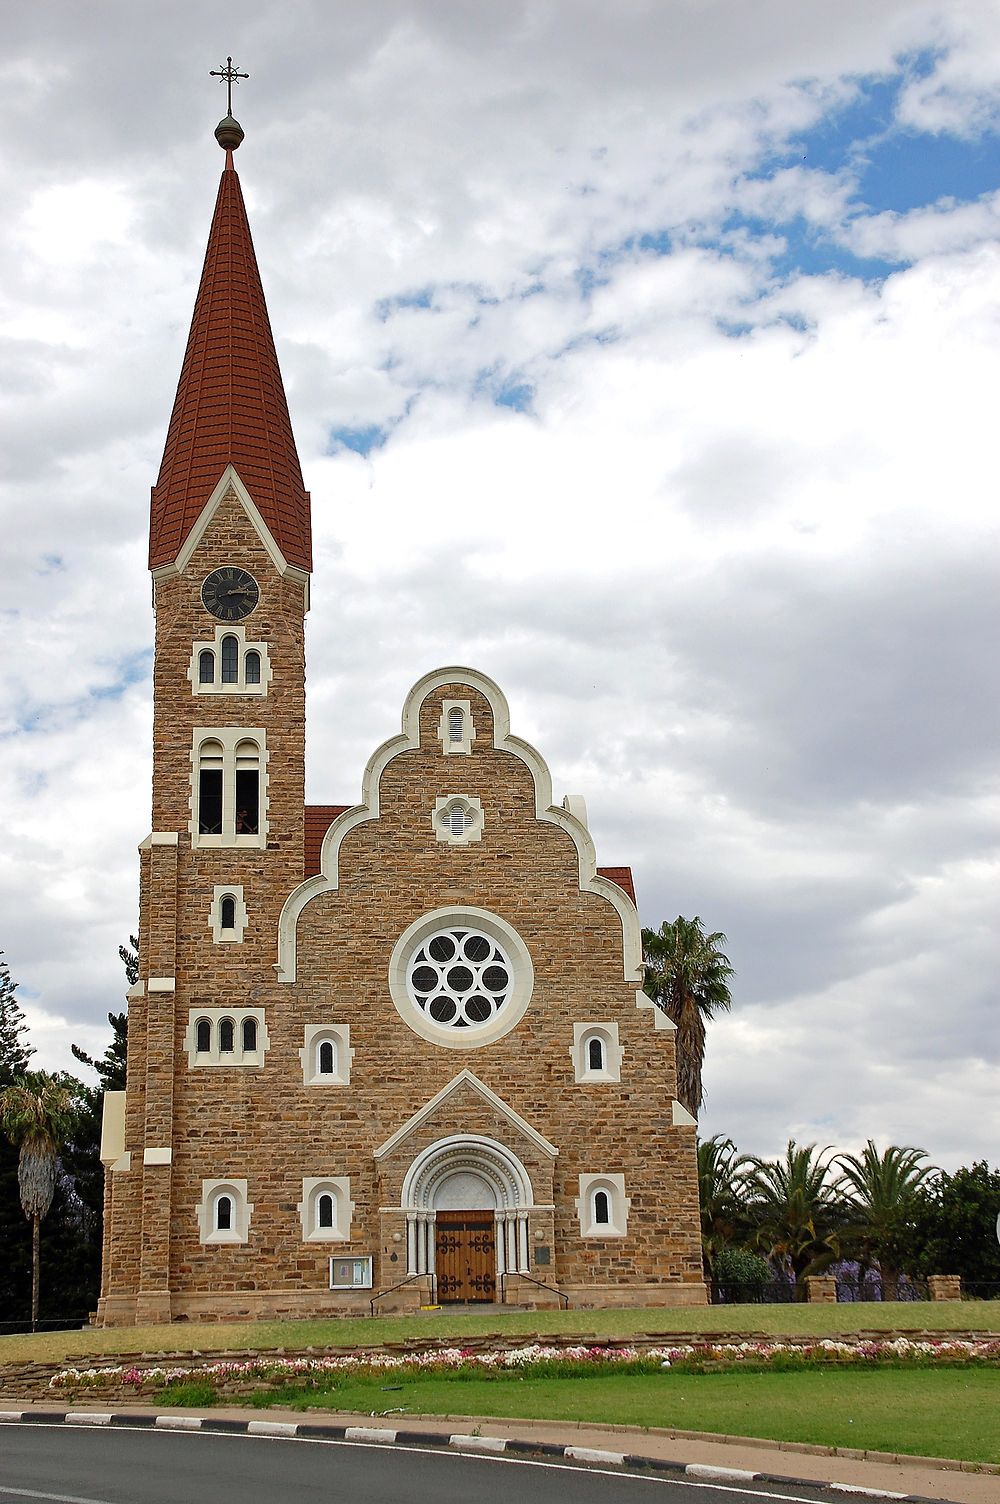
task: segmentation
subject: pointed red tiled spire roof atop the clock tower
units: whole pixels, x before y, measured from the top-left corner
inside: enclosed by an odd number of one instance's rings
[[[310,498],[232,150],[153,486],[149,567],[171,564],[233,463],[289,564],[311,570]]]

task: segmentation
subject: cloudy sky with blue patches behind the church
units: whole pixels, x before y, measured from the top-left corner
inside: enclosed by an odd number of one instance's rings
[[[0,949],[102,1053],[147,498],[223,165],[316,572],[308,790],[468,663],[645,925],[728,937],[701,1133],[1000,1163],[992,0],[3,0]]]

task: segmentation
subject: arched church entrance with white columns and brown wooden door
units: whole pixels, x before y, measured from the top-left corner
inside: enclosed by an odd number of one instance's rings
[[[495,1139],[429,1145],[406,1173],[402,1205],[406,1272],[433,1274],[442,1304],[493,1301],[501,1275],[528,1272],[531,1181]]]

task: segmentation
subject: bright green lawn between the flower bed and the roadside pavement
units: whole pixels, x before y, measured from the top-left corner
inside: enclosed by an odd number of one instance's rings
[[[256,1403],[260,1405],[260,1396]],[[995,1369],[814,1369],[583,1379],[344,1381],[334,1393],[272,1391],[275,1405],[355,1414],[498,1415],[656,1426],[1000,1462]],[[397,1417],[398,1423],[398,1417]],[[623,1445],[641,1451],[633,1438]]]

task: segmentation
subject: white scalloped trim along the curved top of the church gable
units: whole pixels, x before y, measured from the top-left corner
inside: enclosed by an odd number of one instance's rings
[[[344,836],[367,820],[379,818],[379,781],[386,766],[402,752],[420,747],[420,710],[429,695],[445,684],[468,684],[489,702],[493,711],[493,746],[502,752],[511,752],[528,767],[535,790],[535,818],[558,826],[570,836],[577,853],[580,892],[598,893],[618,913],[623,931],[623,979],[633,982],[639,991],[636,1003],[642,1008],[656,1008],[651,999],[641,991],[642,987],[642,929],[636,905],[629,895],[597,872],[597,853],[585,824],[568,809],[562,809],[552,802],[552,775],[541,755],[520,737],[511,735],[510,708],[502,690],[486,674],[471,668],[439,668],[426,674],[414,684],[403,705],[403,729],[398,735],[383,741],[371,757],[364,770],[361,803],[346,809],[343,815],[332,821],[323,838],[320,853],[320,871],[314,877],[307,877],[289,893],[281,917],[278,920],[278,964],[277,978],[280,982],[295,982],[296,975],[296,931],[299,914],[319,893],[329,892],[340,886],[340,848]],[[448,701],[451,704],[451,701]],[[471,702],[469,702],[471,704]],[[250,734],[250,732],[248,732]],[[662,1009],[656,1009],[657,1015]],[[666,1027],[656,1020],[657,1027]]]

